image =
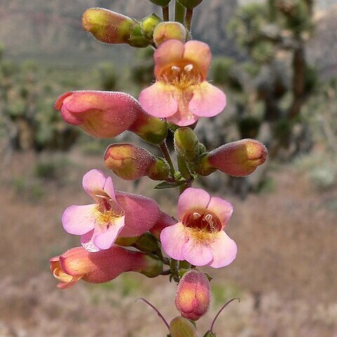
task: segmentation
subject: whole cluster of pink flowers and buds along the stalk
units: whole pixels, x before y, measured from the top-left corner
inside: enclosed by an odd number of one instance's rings
[[[186,14],[183,22],[169,22],[170,0],[151,1],[163,8],[164,21],[157,15],[135,20],[104,8],[89,8],[82,18],[84,29],[99,41],[154,48],[155,82],[140,92],[139,101],[128,93],[72,91],[56,100],[55,109],[93,137],[131,131],[158,146],[161,157],[138,145],[113,143],[105,151],[105,166],[124,180],[147,176],[160,181],[158,189],[178,187],[177,213],[171,217],[153,199],[114,190],[112,177],[92,169],[82,181],[91,202],[69,206],[62,214],[63,228],[79,235],[81,246],[51,258],[50,265],[60,289],[80,279],[108,282],[124,272],[169,275],[178,282],[181,317],[164,322],[172,337],[197,336],[190,320],[208,310],[211,293],[209,277],[195,267],[230,265],[237,244],[225,233],[232,204],[192,183],[217,170],[247,176],[263,164],[267,150],[252,139],[210,151],[199,143],[193,131],[198,119],[214,117],[226,105],[225,93],[207,81],[209,46],[191,40],[188,32],[192,11],[202,0],[180,0],[176,10]],[[166,146],[169,132],[174,133],[178,169]],[[206,336],[215,336],[212,329]]]

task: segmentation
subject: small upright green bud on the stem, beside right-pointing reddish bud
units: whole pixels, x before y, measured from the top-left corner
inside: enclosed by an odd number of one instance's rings
[[[174,146],[179,156],[188,164],[198,164],[199,140],[192,128],[178,128],[174,133]]]

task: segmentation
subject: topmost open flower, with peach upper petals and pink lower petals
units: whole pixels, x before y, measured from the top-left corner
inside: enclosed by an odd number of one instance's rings
[[[211,51],[200,41],[165,41],[154,52],[156,83],[140,93],[140,105],[152,116],[178,126],[223,111],[226,96],[206,81]]]

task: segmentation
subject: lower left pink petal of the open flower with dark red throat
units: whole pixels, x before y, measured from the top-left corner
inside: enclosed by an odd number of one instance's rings
[[[164,228],[160,233],[161,246],[170,258],[185,260],[183,246],[187,242],[183,223]]]

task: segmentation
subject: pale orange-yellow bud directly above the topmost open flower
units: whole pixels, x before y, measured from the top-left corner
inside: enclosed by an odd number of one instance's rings
[[[171,39],[182,41],[185,44],[186,38],[187,30],[180,22],[160,22],[153,32],[153,41],[157,47]]]

